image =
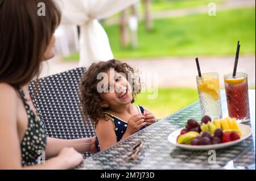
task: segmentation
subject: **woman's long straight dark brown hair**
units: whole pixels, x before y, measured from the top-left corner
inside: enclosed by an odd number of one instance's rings
[[[39,3],[46,16],[38,16]],[[38,76],[60,19],[52,0],[0,0],[0,82],[20,87]]]

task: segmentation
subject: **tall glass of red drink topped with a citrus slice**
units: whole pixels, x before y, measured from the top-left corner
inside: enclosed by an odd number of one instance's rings
[[[224,82],[229,117],[236,117],[241,122],[250,120],[247,74],[236,73],[236,77],[226,74]]]

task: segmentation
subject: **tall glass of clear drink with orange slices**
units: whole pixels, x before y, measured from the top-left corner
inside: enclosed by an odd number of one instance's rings
[[[218,74],[205,73],[202,74],[201,77],[197,75],[196,81],[199,91],[201,113],[204,116],[210,116],[212,119],[220,119],[222,117],[222,111]]]

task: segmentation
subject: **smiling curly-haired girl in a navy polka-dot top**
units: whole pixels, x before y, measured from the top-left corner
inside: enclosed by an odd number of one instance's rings
[[[82,114],[85,120],[94,121],[98,151],[155,123],[155,116],[147,108],[133,104],[140,91],[134,89],[140,83],[129,83],[129,76],[139,78],[131,66],[109,60],[93,63],[81,78]]]

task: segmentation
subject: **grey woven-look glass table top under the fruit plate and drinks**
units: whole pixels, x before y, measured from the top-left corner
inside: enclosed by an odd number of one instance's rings
[[[201,120],[199,101],[167,116],[109,149],[84,160],[77,169],[255,169],[255,90],[249,90],[250,123],[253,135],[238,145],[216,150],[216,162],[209,162],[208,151],[177,148],[167,140],[188,119]],[[228,117],[225,91],[221,91],[222,115]],[[137,159],[128,159],[138,142],[143,149]]]

